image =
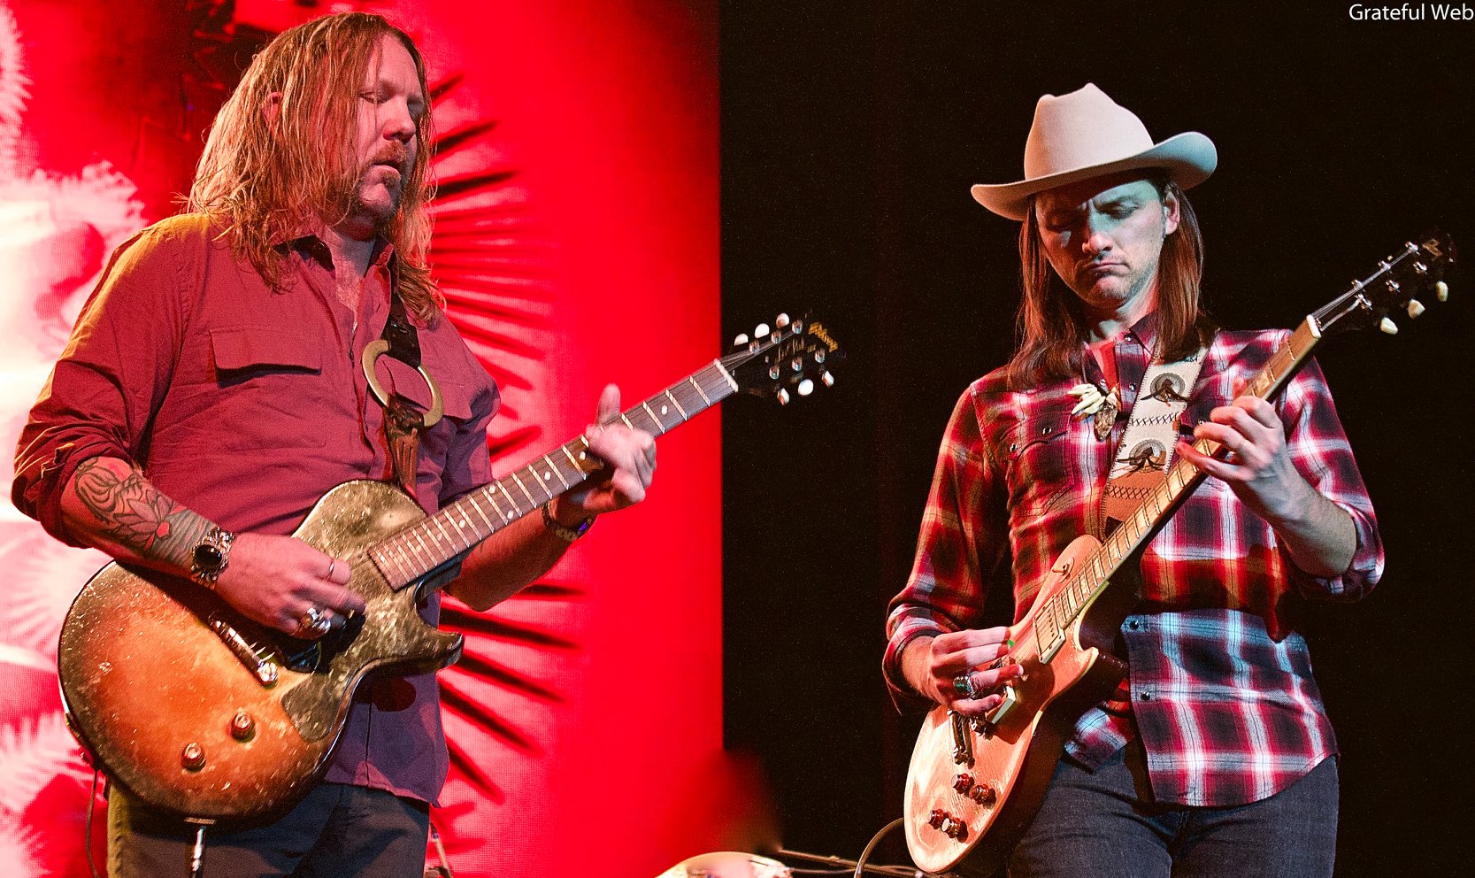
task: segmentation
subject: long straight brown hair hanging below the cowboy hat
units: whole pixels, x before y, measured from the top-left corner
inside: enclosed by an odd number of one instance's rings
[[[1179,202],[1179,227],[1162,242],[1158,257],[1158,356],[1173,362],[1192,354],[1214,332],[1214,322],[1199,301],[1204,235],[1177,183],[1161,173],[1148,180],[1161,201]],[[1019,344],[1007,366],[1009,387],[1024,390],[1078,375],[1089,326],[1080,297],[1065,286],[1044,255],[1034,205],[1019,227],[1019,270],[1024,298],[1016,317]]]

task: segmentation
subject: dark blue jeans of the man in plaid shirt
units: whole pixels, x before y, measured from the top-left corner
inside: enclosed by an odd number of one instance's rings
[[[1061,760],[1009,878],[1329,878],[1336,791],[1328,758],[1251,804],[1155,804],[1136,742],[1096,772]]]

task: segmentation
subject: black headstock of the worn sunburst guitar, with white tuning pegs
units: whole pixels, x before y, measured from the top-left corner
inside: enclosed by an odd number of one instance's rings
[[[733,347],[721,359],[723,369],[742,391],[773,395],[780,404],[794,395],[807,397],[819,385],[833,385],[829,367],[844,356],[825,326],[808,316],[789,320],[779,314],[773,326],[758,323],[752,336],[735,338]]]

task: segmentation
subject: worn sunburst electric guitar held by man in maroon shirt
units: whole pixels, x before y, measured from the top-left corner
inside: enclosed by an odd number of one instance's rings
[[[618,421],[661,435],[739,393],[788,403],[832,384],[825,326],[780,316]],[[426,516],[379,481],[327,491],[295,536],[350,558],[367,611],[322,640],[298,640],[236,614],[212,592],[109,564],[62,623],[58,670],[72,732],[115,782],[201,822],[285,810],[323,775],[354,691],[376,674],[437,670],[462,636],[419,606],[457,562],[603,465],[578,437]]]

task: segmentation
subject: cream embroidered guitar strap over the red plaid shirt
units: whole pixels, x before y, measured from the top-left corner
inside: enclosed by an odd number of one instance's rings
[[[1142,376],[1142,393],[1121,434],[1106,487],[1102,512],[1106,530],[1125,521],[1158,484],[1167,478],[1179,421],[1187,407],[1193,382],[1204,366],[1205,348],[1177,363],[1152,363]]]

